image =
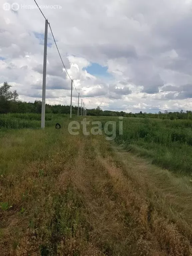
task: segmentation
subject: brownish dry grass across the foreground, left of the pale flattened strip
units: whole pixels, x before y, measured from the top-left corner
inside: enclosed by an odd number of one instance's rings
[[[0,255],[191,255],[147,166],[133,175],[103,137],[12,131],[0,157]]]

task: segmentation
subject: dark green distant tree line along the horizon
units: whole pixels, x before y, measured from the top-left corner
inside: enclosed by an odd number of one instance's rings
[[[18,100],[17,91],[10,91],[11,86],[4,82],[0,86],[0,114],[6,113],[41,113],[41,101],[22,102]],[[77,114],[77,106],[72,106],[72,114]],[[46,113],[70,114],[69,105],[48,105],[45,108]],[[81,114],[81,108],[79,108]],[[192,111],[168,112],[167,110],[158,113],[126,113],[124,111],[102,110],[99,106],[96,109],[87,109],[87,115],[90,116],[123,116],[123,117],[142,117],[142,118],[162,118],[162,119],[192,119]]]

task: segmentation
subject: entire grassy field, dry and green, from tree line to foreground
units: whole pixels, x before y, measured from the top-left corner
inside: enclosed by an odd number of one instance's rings
[[[87,119],[117,121],[115,141],[0,116],[0,255],[192,255],[191,123]]]

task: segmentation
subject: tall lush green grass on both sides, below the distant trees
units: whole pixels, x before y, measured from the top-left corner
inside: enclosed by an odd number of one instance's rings
[[[75,120],[74,115],[72,119]],[[115,142],[123,144],[128,151],[152,160],[152,163],[184,175],[192,174],[192,121],[124,118],[123,135],[119,135],[118,117],[88,117],[104,124],[110,120],[117,123]],[[69,115],[46,114],[45,126],[68,122]],[[9,129],[38,129],[41,114],[1,114],[0,138]],[[66,128],[67,129],[67,128]]]

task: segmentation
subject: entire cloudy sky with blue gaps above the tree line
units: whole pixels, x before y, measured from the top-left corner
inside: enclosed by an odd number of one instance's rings
[[[21,100],[41,100],[45,20],[33,0],[10,9],[15,1],[0,1],[0,84],[8,81]],[[190,0],[37,3],[50,5],[42,11],[87,108],[192,110]],[[73,105],[77,97],[74,90]],[[49,28],[46,98],[70,104],[70,80]]]

